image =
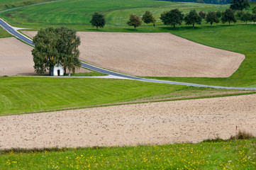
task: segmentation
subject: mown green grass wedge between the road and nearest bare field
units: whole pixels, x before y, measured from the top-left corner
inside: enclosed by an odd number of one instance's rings
[[[0,77],[0,91],[0,115],[246,93],[130,80],[38,77]]]

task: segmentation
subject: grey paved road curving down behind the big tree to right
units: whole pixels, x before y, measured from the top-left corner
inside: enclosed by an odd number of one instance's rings
[[[15,28],[13,28],[8,23],[3,21],[1,18],[0,18],[0,26],[2,28],[4,28],[5,30],[7,30],[9,33],[11,33],[11,35],[14,35],[16,38],[22,40],[23,42],[28,43],[28,45],[31,45],[33,47],[35,46],[33,44],[33,41],[30,38],[26,37],[25,35],[22,35],[21,33],[18,33],[18,31]],[[144,79],[144,78],[140,78],[140,77],[133,77],[133,76],[129,76],[129,75],[126,75],[126,74],[112,72],[112,71],[109,71],[107,69],[102,69],[102,68],[99,68],[99,67],[95,67],[95,66],[93,66],[91,64],[87,64],[87,63],[84,63],[84,62],[81,62],[81,63],[82,63],[82,67],[94,70],[96,72],[101,72],[101,73],[108,74],[108,75],[115,76],[115,77],[121,77],[121,78],[126,78],[126,79],[133,79],[133,80],[138,80],[138,81],[160,83],[160,84],[176,84],[176,85],[182,85],[182,86],[209,87],[209,88],[214,88],[214,89],[256,90],[256,88],[228,87],[228,86],[208,86],[208,85],[202,85],[202,84],[190,84],[190,83],[183,83],[183,82],[176,82],[176,81],[163,81],[163,80],[155,80],[155,79]]]

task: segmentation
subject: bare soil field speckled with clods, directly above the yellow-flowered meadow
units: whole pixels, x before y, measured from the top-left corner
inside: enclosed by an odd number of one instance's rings
[[[200,142],[256,135],[256,94],[0,117],[0,149]]]

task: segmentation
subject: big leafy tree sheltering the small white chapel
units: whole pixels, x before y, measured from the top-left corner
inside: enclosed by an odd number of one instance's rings
[[[79,62],[80,38],[76,31],[69,28],[40,29],[33,38],[35,44],[32,50],[34,69],[38,74],[44,74],[47,69],[60,62],[64,69],[75,72],[81,67]]]

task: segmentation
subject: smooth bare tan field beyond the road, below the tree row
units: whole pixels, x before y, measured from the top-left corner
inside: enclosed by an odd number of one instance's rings
[[[36,32],[23,31],[33,37]],[[78,32],[80,59],[116,72],[152,77],[230,77],[245,55],[170,33]]]

